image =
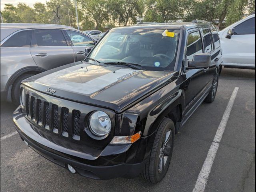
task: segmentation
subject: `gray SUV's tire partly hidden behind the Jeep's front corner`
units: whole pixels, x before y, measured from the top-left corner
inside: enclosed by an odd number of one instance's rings
[[[33,75],[34,74],[22,74],[14,81],[12,85],[12,93],[11,93],[13,104],[17,106],[20,104],[20,83],[22,82],[22,80],[29,78]]]

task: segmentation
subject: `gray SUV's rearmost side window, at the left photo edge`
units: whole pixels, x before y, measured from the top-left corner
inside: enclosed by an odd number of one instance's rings
[[[1,47],[29,47],[32,30],[20,31],[11,36]]]

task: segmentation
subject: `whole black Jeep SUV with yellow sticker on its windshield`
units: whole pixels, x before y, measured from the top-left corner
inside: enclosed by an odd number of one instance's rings
[[[164,178],[174,135],[213,102],[222,62],[216,27],[162,23],[113,28],[84,61],[24,80],[13,114],[24,142],[94,179]]]

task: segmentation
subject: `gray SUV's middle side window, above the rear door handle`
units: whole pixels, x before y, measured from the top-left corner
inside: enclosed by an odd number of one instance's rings
[[[67,42],[58,29],[38,29],[32,34],[31,46],[68,46]]]

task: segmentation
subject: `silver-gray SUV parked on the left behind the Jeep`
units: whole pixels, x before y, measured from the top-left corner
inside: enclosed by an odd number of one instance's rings
[[[63,25],[1,24],[1,99],[19,104],[20,82],[84,60],[95,40]]]

